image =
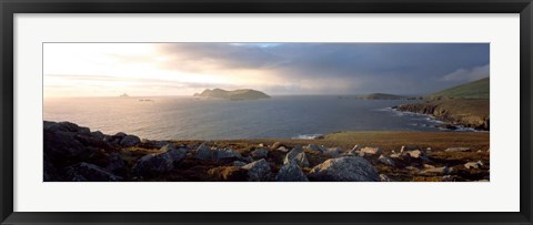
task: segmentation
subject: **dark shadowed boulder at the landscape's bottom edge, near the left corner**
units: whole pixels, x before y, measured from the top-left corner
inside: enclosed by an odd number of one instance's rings
[[[67,177],[72,182],[120,182],[121,176],[117,176],[105,168],[90,163],[78,163],[66,168]]]

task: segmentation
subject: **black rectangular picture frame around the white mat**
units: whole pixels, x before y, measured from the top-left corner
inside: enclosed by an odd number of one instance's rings
[[[532,0],[0,0],[2,224],[532,224]],[[520,212],[24,213],[13,212],[14,13],[520,13]],[[497,193],[494,193],[497,194]],[[53,204],[53,203],[51,203]],[[282,204],[280,202],[280,204]],[[460,204],[460,203],[457,203]]]

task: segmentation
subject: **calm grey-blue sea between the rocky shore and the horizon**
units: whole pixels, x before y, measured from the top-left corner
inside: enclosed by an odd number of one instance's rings
[[[141,101],[150,99],[151,101]],[[50,98],[43,120],[70,121],[107,134],[151,140],[312,139],[338,131],[440,131],[431,116],[392,106],[413,101],[324,96],[265,100]]]

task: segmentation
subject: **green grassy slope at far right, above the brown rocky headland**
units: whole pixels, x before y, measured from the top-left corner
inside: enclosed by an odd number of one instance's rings
[[[489,78],[484,78],[470,83],[453,86],[433,94],[426,99],[489,99],[490,92]]]

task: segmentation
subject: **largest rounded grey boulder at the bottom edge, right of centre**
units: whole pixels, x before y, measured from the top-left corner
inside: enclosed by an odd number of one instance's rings
[[[319,164],[308,174],[319,182],[379,182],[378,170],[363,157],[343,156]]]

